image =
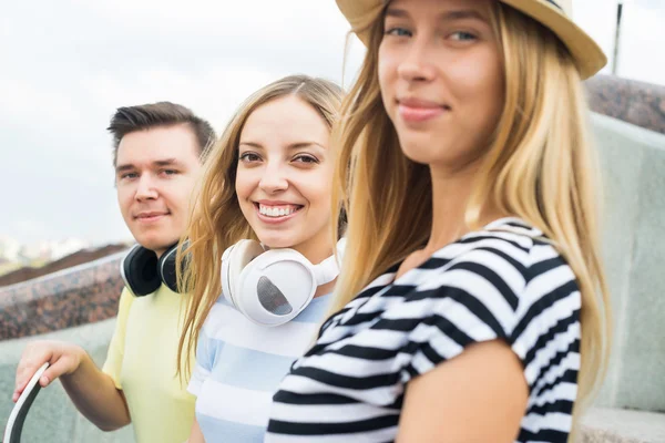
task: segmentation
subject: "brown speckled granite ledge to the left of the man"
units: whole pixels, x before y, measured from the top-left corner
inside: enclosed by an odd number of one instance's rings
[[[0,340],[115,317],[123,254],[0,288]]]

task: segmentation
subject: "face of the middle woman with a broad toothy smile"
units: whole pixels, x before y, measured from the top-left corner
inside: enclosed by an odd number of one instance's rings
[[[335,158],[324,119],[288,95],[257,107],[241,133],[236,193],[258,239],[294,248],[310,260],[332,248]]]

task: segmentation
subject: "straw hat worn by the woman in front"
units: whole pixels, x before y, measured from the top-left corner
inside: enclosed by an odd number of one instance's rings
[[[370,10],[386,3],[387,0],[336,0],[341,13],[351,24],[358,21]],[[523,12],[539,21],[567,47],[575,60],[583,79],[598,72],[606,63],[607,58],[598,44],[577,27],[572,20],[572,0],[500,0],[503,3]],[[358,33],[358,38],[367,44],[368,34]]]

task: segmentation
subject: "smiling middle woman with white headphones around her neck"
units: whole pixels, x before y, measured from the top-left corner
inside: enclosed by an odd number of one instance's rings
[[[263,442],[273,392],[326,312],[338,274],[329,138],[340,103],[321,79],[272,83],[205,164],[182,280],[191,299],[178,367],[197,343],[191,443]]]

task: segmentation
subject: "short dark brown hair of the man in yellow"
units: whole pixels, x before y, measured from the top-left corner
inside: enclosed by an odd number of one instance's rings
[[[106,128],[113,135],[113,165],[117,163],[117,146],[125,135],[153,127],[187,124],[196,135],[201,157],[215,141],[215,130],[192,110],[181,104],[158,102],[136,106],[123,106],[115,111]]]

